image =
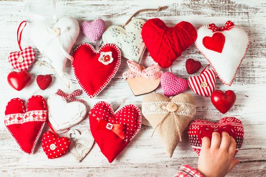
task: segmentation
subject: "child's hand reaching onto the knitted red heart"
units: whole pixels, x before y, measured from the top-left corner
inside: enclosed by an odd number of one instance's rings
[[[198,171],[204,176],[225,176],[238,163],[238,159],[233,156],[236,151],[236,142],[227,132],[212,133],[211,142],[208,137],[202,139],[200,157],[198,161]]]

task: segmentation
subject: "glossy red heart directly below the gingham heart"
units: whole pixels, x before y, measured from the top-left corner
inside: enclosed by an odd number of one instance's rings
[[[8,83],[13,89],[21,91],[29,83],[30,77],[27,71],[12,71],[8,74]]]

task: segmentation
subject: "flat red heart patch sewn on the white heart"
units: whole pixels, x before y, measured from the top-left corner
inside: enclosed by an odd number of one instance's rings
[[[224,45],[225,37],[222,33],[216,32],[212,35],[212,37],[205,36],[202,39],[203,46],[209,50],[215,52],[222,52],[223,45]]]

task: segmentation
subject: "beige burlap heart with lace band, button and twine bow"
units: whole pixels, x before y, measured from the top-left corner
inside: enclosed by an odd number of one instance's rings
[[[169,157],[196,114],[194,97],[179,94],[172,99],[162,94],[148,94],[142,100],[142,114],[163,140]]]

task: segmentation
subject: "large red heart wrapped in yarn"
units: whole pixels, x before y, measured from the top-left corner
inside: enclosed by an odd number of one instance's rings
[[[197,39],[197,31],[191,23],[182,21],[168,27],[158,18],[148,20],[141,35],[150,56],[163,68],[171,66]]]

